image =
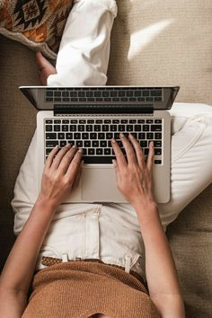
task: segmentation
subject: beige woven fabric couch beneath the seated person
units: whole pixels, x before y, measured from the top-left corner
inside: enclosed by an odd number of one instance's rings
[[[170,85],[177,102],[212,105],[212,2],[119,0],[108,84]],[[30,144],[36,111],[18,91],[40,84],[34,53],[0,37],[0,258],[13,244],[13,185]],[[212,317],[212,186],[169,226],[189,318]]]

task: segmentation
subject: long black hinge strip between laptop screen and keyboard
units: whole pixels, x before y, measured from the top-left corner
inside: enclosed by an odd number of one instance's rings
[[[153,114],[154,104],[55,104],[54,115],[62,114]]]

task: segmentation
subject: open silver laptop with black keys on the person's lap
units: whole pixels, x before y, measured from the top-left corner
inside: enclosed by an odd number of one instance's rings
[[[170,200],[171,116],[179,86],[24,87],[37,113],[38,190],[46,159],[54,146],[83,148],[82,176],[66,202],[127,203],[116,186],[111,138],[126,155],[119,133],[133,134],[148,154],[155,144],[155,200]]]

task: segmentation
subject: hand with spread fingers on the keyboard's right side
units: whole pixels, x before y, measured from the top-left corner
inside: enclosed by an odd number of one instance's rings
[[[143,151],[135,137],[129,134],[129,142],[127,137],[120,134],[120,139],[126,150],[128,162],[116,140],[111,140],[116,155],[116,160],[113,159],[112,163],[119,191],[134,207],[141,204],[146,207],[149,203],[155,203],[152,178],[154,143],[150,143],[149,154],[145,161]]]

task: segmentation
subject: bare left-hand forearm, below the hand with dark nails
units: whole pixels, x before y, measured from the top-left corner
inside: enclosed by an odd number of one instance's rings
[[[40,246],[49,229],[55,208],[37,201],[31,211],[22,233],[16,239],[13,249],[4,265],[0,287],[22,291],[27,294],[34,273]]]

